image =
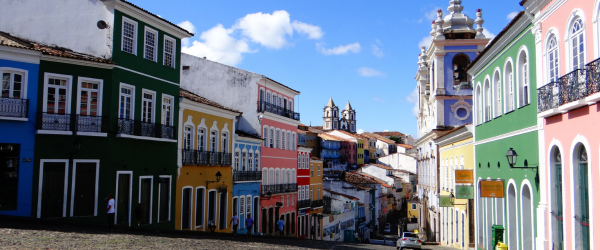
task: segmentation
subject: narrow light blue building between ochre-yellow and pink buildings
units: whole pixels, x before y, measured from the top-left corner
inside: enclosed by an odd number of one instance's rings
[[[258,135],[236,131],[233,146],[233,212],[240,218],[238,233],[246,234],[244,223],[248,214],[254,219],[252,234],[259,233],[260,184],[260,145],[263,139]]]

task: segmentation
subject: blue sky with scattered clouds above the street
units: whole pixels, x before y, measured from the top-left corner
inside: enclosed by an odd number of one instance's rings
[[[357,128],[416,135],[414,76],[420,44],[448,0],[130,0],[192,29],[184,52],[263,74],[301,92],[304,124],[322,125],[323,106],[349,100]],[[518,0],[465,0],[464,13],[498,34]],[[206,96],[210,98],[210,96]]]

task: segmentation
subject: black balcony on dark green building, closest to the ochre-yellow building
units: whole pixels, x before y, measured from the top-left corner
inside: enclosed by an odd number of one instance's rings
[[[158,140],[174,140],[175,128],[160,123],[148,123],[126,118],[118,120],[118,134],[120,137],[141,137]]]

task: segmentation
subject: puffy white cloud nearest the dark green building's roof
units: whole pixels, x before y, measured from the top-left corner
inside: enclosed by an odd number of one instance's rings
[[[191,46],[183,47],[182,52],[198,57],[207,57],[211,61],[235,66],[243,59],[243,53],[252,53],[248,43],[232,36],[233,29],[225,29],[223,25],[202,32],[200,40],[193,41]]]

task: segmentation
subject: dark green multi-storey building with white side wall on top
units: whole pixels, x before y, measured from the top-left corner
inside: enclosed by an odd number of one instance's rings
[[[10,33],[45,53],[31,216],[106,224],[112,193],[117,227],[174,229],[181,39],[193,34],[123,0],[29,5],[10,8],[35,32]]]

